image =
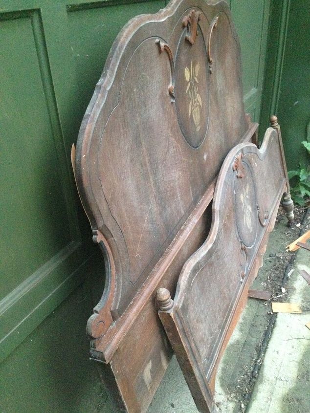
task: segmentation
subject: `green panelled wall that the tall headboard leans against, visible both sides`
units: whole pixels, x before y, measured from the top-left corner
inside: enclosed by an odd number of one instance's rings
[[[230,1],[256,121],[270,1]],[[88,360],[92,286],[104,274],[69,152],[116,34],[164,5],[0,0],[0,413],[112,413]]]

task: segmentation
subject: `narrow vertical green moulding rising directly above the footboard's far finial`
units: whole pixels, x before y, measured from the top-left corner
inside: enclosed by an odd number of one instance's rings
[[[284,0],[281,8],[281,22],[279,27],[278,48],[276,56],[276,65],[274,72],[274,83],[272,88],[272,97],[270,105],[270,114],[277,113],[280,95],[280,83],[283,71],[284,54],[287,43],[288,19],[289,19],[290,0]]]

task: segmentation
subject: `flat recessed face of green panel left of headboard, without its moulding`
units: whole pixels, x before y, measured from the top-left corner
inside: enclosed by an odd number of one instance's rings
[[[41,33],[31,20],[2,21],[0,30],[0,300],[70,241],[44,93],[49,79],[41,76],[44,56],[36,48]]]

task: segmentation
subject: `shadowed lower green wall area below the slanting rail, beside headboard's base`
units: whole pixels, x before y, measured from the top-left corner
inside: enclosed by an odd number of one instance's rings
[[[87,357],[89,290],[79,286],[2,362],[1,413],[115,413]]]

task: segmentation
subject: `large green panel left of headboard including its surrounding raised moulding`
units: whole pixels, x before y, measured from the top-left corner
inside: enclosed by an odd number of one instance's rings
[[[0,13],[0,44],[1,360],[82,281],[92,252],[77,225],[40,9]]]

